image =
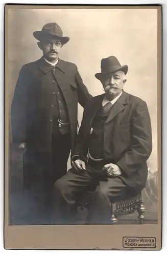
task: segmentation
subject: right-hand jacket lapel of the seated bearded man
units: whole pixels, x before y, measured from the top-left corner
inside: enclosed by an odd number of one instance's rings
[[[129,94],[124,92],[122,93],[121,97],[114,103],[111,108],[111,112],[106,120],[106,123],[110,122],[115,116],[117,116],[120,112],[125,109],[125,105],[128,103]]]

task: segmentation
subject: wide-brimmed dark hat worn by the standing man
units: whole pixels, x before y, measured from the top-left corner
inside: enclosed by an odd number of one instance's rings
[[[35,31],[33,35],[39,41],[44,38],[60,39],[63,45],[69,41],[69,37],[63,36],[63,31],[57,23],[47,23],[42,31]]]

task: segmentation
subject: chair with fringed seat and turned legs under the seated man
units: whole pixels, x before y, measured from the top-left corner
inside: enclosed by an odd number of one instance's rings
[[[80,201],[81,209],[87,208],[88,210],[86,224],[91,222],[91,202],[93,200],[93,189],[94,188],[90,188],[82,198],[82,201]],[[127,198],[126,200],[120,200],[111,204],[111,224],[116,224],[119,216],[133,214],[135,211],[138,212],[138,224],[142,224],[145,218],[145,206],[142,201],[141,193],[134,197]]]

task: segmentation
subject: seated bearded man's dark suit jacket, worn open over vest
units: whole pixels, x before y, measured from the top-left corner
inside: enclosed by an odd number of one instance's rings
[[[86,105],[71,157],[79,155],[86,161],[91,123],[103,98],[104,94],[93,97]],[[117,164],[122,170],[122,180],[140,190],[147,181],[147,159],[151,152],[152,132],[147,104],[123,91],[104,125],[104,160]]]

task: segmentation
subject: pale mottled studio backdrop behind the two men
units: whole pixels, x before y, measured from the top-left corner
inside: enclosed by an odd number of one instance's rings
[[[11,105],[20,68],[39,59],[42,52],[33,32],[46,23],[56,22],[69,36],[60,58],[74,62],[89,92],[103,93],[102,84],[94,77],[100,72],[102,58],[114,55],[121,65],[127,64],[125,91],[148,104],[153,136],[153,151],[148,160],[149,177],[143,199],[146,218],[157,219],[157,10],[154,9],[41,9],[9,10],[8,74]],[[160,86],[160,84],[159,84]],[[83,109],[79,106],[78,120]],[[10,118],[10,112],[9,112]],[[10,136],[10,223],[23,223],[22,161]],[[69,165],[70,167],[70,165]],[[160,171],[160,170],[159,170]],[[27,202],[28,203],[28,202]],[[31,212],[31,209],[30,209]]]

